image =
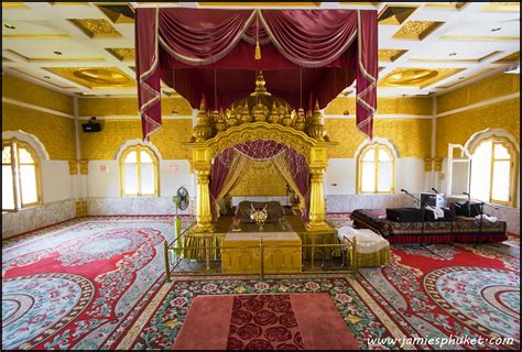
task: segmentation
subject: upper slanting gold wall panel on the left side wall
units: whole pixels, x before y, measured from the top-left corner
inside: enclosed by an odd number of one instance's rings
[[[72,97],[10,75],[2,76],[2,98],[74,114]]]

